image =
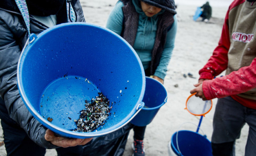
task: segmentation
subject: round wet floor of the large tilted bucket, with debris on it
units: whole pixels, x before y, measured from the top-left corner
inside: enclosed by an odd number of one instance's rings
[[[44,118],[48,119],[50,117],[52,124],[67,130],[94,130],[102,126],[103,121],[109,115],[111,107],[109,106],[109,101],[108,106],[105,106],[106,103],[102,105],[101,98],[99,98],[101,100],[100,102],[94,99],[99,96],[99,93],[100,90],[92,81],[83,77],[65,76],[56,79],[43,92],[40,102],[41,114]],[[90,107],[91,101],[96,101],[100,105],[95,102],[96,104],[92,103],[94,105]],[[69,109],[67,109],[67,106],[69,106]],[[81,113],[79,110],[83,111],[83,113],[88,113],[84,114],[85,119],[83,121],[85,122],[77,121],[80,115],[78,112]],[[95,113],[98,114],[95,115]],[[81,126],[78,123],[84,124]],[[77,125],[80,125],[78,126],[79,129],[77,129]]]

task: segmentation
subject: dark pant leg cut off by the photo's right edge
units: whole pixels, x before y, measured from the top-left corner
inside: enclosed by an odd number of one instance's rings
[[[256,156],[256,110],[247,108],[245,118],[249,125],[245,156]]]

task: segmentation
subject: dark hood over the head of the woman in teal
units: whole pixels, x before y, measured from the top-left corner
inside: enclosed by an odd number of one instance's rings
[[[166,11],[169,11],[173,14],[177,13],[175,11],[174,0],[141,0],[141,1],[145,2],[149,5],[153,5],[153,6],[161,8],[161,9],[165,9]]]

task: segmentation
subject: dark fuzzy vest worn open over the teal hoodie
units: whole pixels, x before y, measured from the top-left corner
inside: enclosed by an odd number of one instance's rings
[[[121,0],[124,4],[122,7],[124,21],[121,36],[132,46],[137,34],[139,13],[136,12],[132,0]],[[158,15],[157,32],[154,47],[152,50],[152,59],[150,63],[150,74],[154,75],[157,66],[159,65],[160,58],[166,42],[166,35],[168,29],[174,22],[173,13],[164,11],[164,13]]]

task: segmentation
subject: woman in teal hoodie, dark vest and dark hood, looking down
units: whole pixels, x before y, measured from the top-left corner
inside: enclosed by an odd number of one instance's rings
[[[146,76],[164,83],[177,31],[173,0],[120,0],[107,28],[122,36],[138,54]],[[134,127],[134,156],[143,156],[145,127]]]

